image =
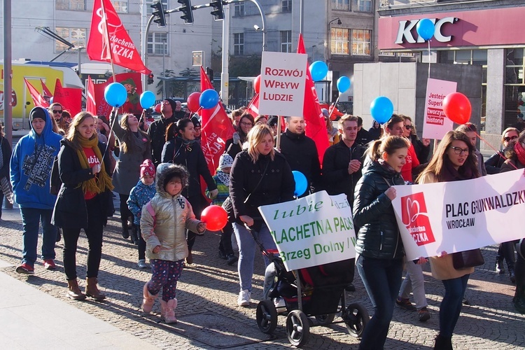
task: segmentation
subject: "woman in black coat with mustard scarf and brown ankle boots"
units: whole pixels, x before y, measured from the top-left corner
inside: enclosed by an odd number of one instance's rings
[[[97,288],[100,259],[102,257],[102,231],[108,216],[113,215],[111,178],[106,172],[108,157],[103,162],[104,144],[100,144],[95,130],[95,120],[90,113],[80,112],[61,141],[58,153],[60,187],[52,223],[62,228],[64,236],[64,272],[68,293],[73,300],[85,296],[94,300],[106,297]],[[76,280],[76,246],[83,228],[87,251],[85,295]]]

